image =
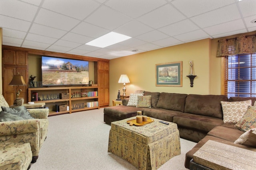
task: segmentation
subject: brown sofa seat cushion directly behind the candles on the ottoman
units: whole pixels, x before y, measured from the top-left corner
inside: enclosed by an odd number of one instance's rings
[[[166,110],[161,108],[150,108],[144,109],[143,115],[147,115],[148,117],[154,117],[156,119],[161,119],[164,121],[171,121],[175,115],[181,114],[181,111],[174,111],[174,110]]]

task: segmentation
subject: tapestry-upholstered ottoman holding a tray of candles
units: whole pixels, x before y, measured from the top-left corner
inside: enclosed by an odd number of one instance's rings
[[[108,152],[120,156],[140,170],[156,170],[170,158],[180,154],[177,124],[160,123],[160,119],[143,126],[130,126],[130,117],[111,123]]]

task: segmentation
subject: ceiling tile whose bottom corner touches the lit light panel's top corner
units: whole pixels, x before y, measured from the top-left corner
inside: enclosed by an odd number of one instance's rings
[[[106,6],[101,6],[84,21],[112,30],[129,22],[130,20],[132,20],[132,18],[125,16],[120,12],[116,12]]]

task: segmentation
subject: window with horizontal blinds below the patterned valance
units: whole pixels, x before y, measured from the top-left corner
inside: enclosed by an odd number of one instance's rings
[[[230,97],[256,97],[256,53],[225,57],[224,91]]]

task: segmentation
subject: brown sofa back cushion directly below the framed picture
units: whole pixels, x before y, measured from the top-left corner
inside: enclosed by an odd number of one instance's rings
[[[156,107],[184,112],[186,94],[160,93]]]

